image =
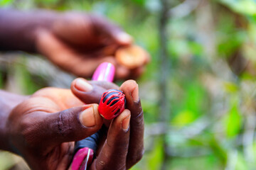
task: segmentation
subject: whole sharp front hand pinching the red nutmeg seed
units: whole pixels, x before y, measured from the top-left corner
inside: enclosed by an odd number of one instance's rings
[[[102,127],[97,104],[90,103],[98,103],[105,90],[118,88],[108,82],[75,79],[71,91],[37,91],[9,115],[11,151],[20,154],[31,169],[68,169],[74,141]],[[125,81],[120,89],[127,97],[127,109],[110,123],[90,169],[129,169],[142,158],[144,120],[139,89],[135,81]]]

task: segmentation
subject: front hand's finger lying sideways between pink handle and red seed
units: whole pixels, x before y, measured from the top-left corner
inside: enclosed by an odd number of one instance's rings
[[[119,87],[107,81],[87,81],[78,78],[72,82],[70,89],[84,103],[99,103],[107,89],[119,89]]]

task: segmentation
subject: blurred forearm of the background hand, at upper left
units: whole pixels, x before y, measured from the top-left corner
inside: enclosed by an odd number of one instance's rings
[[[0,51],[36,52],[36,32],[48,28],[57,17],[51,11],[0,9]]]

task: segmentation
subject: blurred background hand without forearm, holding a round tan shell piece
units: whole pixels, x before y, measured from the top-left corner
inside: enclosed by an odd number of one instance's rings
[[[115,65],[117,79],[138,77],[144,66],[128,69],[114,58],[118,47],[131,45],[132,37],[102,16],[60,14],[50,26],[36,31],[36,48],[58,67],[79,77],[91,77],[102,62]]]

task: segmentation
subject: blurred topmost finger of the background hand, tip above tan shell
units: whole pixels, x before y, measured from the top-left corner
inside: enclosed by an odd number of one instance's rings
[[[130,45],[132,44],[132,36],[125,33],[121,28],[116,26],[114,23],[107,21],[107,18],[102,16],[90,15],[91,21],[95,30],[98,33],[102,33],[106,38],[117,42],[119,45]]]

